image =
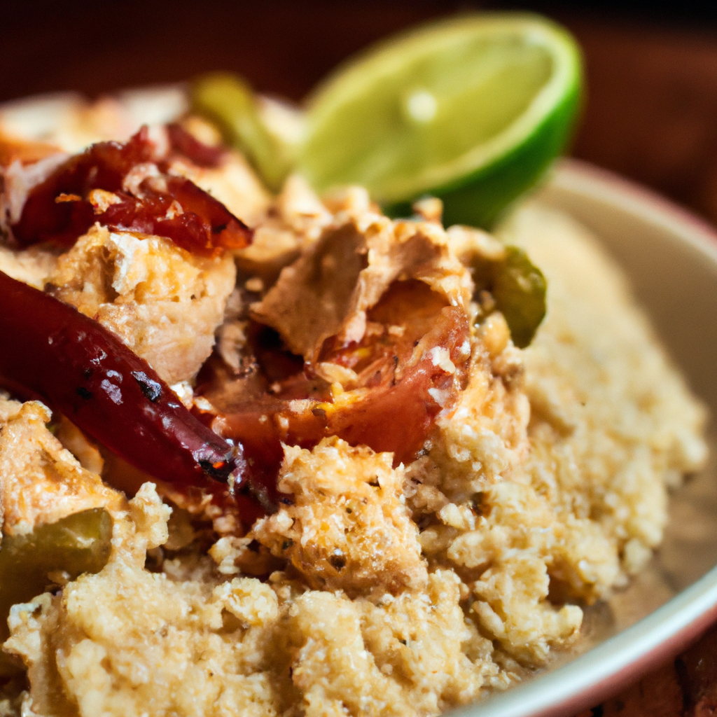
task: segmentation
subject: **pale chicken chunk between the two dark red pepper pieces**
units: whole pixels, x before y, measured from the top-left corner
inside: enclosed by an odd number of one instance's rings
[[[60,256],[49,284],[176,384],[212,352],[235,275],[229,255],[196,257],[169,239],[95,225]]]

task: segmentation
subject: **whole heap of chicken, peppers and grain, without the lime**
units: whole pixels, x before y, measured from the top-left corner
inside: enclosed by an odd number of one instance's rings
[[[271,196],[181,92],[138,133],[67,103],[0,116],[2,301],[37,307],[0,349],[0,569],[39,565],[1,581],[0,709],[437,714],[578,640],[706,457],[597,240]]]

